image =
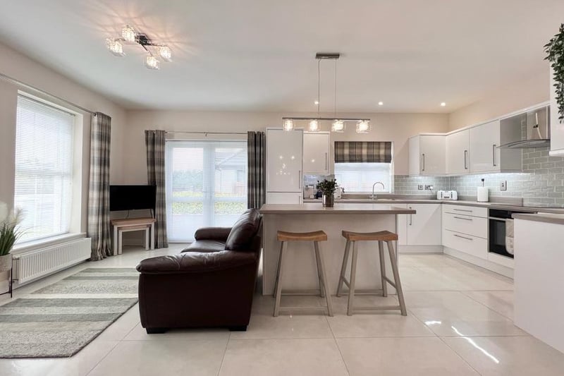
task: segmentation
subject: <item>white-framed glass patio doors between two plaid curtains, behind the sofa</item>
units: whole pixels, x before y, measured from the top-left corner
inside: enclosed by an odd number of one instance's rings
[[[231,226],[247,208],[247,141],[167,141],[169,241],[203,226]]]

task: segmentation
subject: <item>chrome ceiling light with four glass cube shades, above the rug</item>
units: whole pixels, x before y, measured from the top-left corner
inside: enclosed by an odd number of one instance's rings
[[[106,47],[115,56],[125,56],[123,51],[123,43],[138,44],[145,51],[145,66],[149,69],[159,69],[160,59],[163,61],[172,61],[172,50],[166,44],[155,43],[147,37],[147,35],[136,32],[130,25],[125,25],[121,29],[120,38],[107,38]]]

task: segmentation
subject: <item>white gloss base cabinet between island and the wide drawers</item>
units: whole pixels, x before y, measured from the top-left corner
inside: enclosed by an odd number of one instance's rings
[[[398,215],[398,245],[403,250],[436,252],[441,247],[441,204],[394,204],[417,211],[416,214]],[[429,248],[408,248],[406,246]]]

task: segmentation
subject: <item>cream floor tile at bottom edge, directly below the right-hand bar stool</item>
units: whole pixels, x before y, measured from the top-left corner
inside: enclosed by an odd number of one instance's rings
[[[337,339],[350,376],[479,375],[441,339]]]

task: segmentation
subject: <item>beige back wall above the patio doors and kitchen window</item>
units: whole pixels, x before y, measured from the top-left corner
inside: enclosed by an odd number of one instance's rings
[[[191,112],[191,111],[128,111],[128,126],[123,145],[123,183],[145,183],[145,129],[166,131],[246,132],[266,127],[281,126],[282,116],[315,116],[314,114],[264,113],[264,112]],[[321,114],[323,116],[323,114]],[[328,115],[331,116],[331,115]],[[407,138],[420,132],[446,132],[446,114],[341,114],[346,117],[372,119],[372,133],[359,135],[351,123],[345,133],[333,133],[336,140],[393,141],[395,173],[407,174]],[[307,126],[302,122],[298,126]],[[329,122],[322,124],[329,129]],[[190,138],[190,135],[178,135]]]

